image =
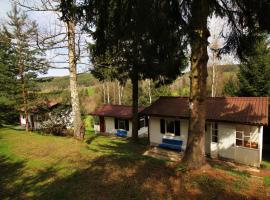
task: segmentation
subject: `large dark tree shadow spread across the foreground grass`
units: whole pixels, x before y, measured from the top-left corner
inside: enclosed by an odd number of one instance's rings
[[[98,144],[96,144],[98,145]],[[85,168],[60,175],[57,163],[25,174],[26,161],[0,159],[0,195],[3,199],[243,199],[228,191],[218,177],[178,173],[163,160],[142,156],[147,148],[132,142],[99,144],[110,151],[84,161]],[[132,152],[134,151],[134,152]],[[78,163],[80,164],[80,163]],[[193,182],[196,184],[192,184]],[[214,183],[214,184],[213,184]],[[191,185],[191,188],[190,188]],[[193,192],[192,187],[199,192]],[[213,194],[214,193],[214,194]],[[223,198],[225,197],[225,198]]]

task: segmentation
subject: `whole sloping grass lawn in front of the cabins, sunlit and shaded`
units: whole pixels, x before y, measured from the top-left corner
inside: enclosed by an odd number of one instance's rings
[[[0,129],[0,199],[267,199],[268,180],[223,164],[187,172],[142,140]]]

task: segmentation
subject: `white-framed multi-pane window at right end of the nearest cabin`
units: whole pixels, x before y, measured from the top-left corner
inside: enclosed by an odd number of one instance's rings
[[[256,137],[256,132],[252,133],[250,129],[236,128],[236,146],[242,146],[252,149],[258,149],[258,138]]]

